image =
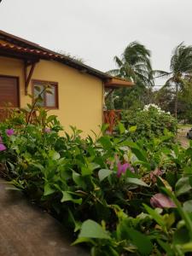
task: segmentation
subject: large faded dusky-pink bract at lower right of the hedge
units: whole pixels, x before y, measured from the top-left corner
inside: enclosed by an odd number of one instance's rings
[[[176,208],[174,202],[169,197],[161,193],[155,194],[151,197],[150,204],[154,208]]]

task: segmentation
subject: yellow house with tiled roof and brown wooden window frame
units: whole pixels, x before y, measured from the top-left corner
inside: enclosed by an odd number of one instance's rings
[[[0,108],[11,102],[24,108],[35,95],[35,85],[51,85],[44,92],[43,107],[55,114],[65,130],[75,125],[84,134],[98,131],[103,122],[105,88],[131,86],[92,67],[49,49],[0,31]]]

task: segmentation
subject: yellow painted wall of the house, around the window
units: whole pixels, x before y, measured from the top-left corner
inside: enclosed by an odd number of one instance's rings
[[[30,98],[25,96],[23,62],[0,57],[0,75],[12,75],[20,78],[20,107],[25,107]],[[90,134],[90,130],[98,133],[98,125],[102,125],[102,80],[78,70],[67,67],[56,61],[39,61],[32,79],[40,79],[58,83],[59,109],[50,110],[69,131],[69,125],[75,125]],[[32,93],[32,83],[29,84]]]

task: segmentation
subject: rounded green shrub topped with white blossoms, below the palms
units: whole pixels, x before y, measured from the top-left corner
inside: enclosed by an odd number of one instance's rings
[[[136,127],[134,134],[127,133],[127,136],[134,140],[143,137],[146,139],[160,137],[165,131],[171,131],[174,136],[177,132],[177,119],[154,104],[148,104],[137,112],[125,111],[122,114],[122,123],[127,131],[131,126]]]

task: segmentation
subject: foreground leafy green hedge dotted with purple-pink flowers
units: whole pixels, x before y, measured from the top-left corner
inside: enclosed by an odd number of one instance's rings
[[[74,231],[73,244],[85,242],[92,256],[192,252],[192,144],[61,130],[43,109],[33,123],[1,123],[0,162],[11,183]]]

